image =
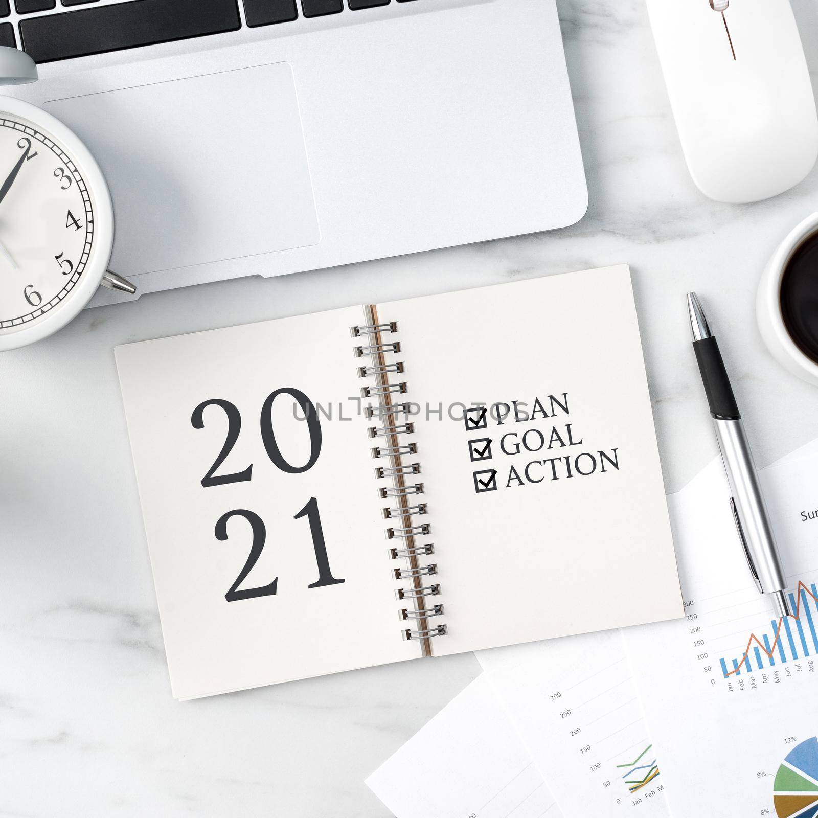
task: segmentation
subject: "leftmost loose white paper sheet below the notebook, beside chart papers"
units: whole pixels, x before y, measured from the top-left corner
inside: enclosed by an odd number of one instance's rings
[[[561,818],[486,682],[475,679],[368,779],[396,818]]]

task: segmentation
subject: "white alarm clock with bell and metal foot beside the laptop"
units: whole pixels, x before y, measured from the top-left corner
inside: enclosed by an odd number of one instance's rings
[[[0,84],[34,82],[24,52],[0,47]],[[108,270],[114,209],[88,148],[41,108],[0,97],[0,351],[74,318],[100,285],[135,293]]]

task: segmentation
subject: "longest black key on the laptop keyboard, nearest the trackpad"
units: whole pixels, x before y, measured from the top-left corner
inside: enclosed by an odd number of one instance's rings
[[[131,0],[20,22],[35,62],[65,60],[240,28],[236,0]]]

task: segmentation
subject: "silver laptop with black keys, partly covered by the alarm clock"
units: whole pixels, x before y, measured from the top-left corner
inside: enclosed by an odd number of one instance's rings
[[[554,0],[0,0],[12,89],[91,148],[139,294],[564,227]],[[111,291],[93,303],[124,296]]]

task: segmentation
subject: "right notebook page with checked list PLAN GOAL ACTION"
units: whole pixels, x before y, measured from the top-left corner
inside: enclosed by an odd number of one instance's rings
[[[681,616],[627,267],[379,309],[417,405],[434,654]]]

